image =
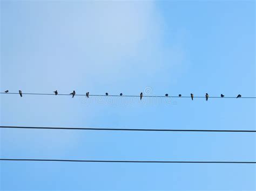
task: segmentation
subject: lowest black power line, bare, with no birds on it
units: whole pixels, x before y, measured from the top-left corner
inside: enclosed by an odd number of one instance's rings
[[[48,161],[48,162],[256,164],[256,162],[254,161],[59,160],[59,159],[0,159],[0,160],[2,161]]]

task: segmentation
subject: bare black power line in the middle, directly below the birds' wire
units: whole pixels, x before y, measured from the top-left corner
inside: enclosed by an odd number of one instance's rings
[[[178,132],[256,132],[256,130],[195,130],[195,129],[127,129],[127,128],[57,128],[39,126],[0,126],[9,129],[56,129],[56,130],[95,130],[95,131],[178,131]]]

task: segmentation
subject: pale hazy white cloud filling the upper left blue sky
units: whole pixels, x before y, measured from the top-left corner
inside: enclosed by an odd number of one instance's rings
[[[73,89],[78,93],[122,89],[139,93],[152,87],[157,91],[154,86],[161,84],[165,88],[172,83],[185,59],[182,44],[164,45],[165,19],[153,1],[28,1],[12,5],[16,7],[10,6],[11,10],[3,13],[2,46],[6,48],[1,65],[1,80],[10,89],[58,89],[60,93]],[[172,35],[167,38],[172,39]],[[98,112],[97,108],[89,112],[80,103],[75,107],[70,98],[70,103],[63,102],[68,101],[47,102],[62,115],[37,104],[42,108],[37,116],[49,117],[49,125],[58,120],[65,122],[66,118],[70,123],[86,124]],[[35,120],[43,120],[37,116]],[[6,123],[10,120],[6,119]],[[58,139],[60,145],[75,139],[66,136]],[[51,142],[52,137],[47,141]]]

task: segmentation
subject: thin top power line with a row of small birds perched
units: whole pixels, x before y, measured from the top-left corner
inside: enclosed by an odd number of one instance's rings
[[[0,92],[0,94],[19,94],[19,93],[4,93]],[[46,93],[22,93],[22,95],[54,95],[55,94],[46,94]],[[70,94],[58,94],[57,96],[72,96]],[[86,96],[86,94],[76,94],[75,96]],[[96,97],[140,97],[139,95],[89,95],[96,96]],[[143,95],[143,97],[165,97],[165,98],[191,98],[191,96],[150,96],[150,95]],[[205,96],[194,96],[194,98],[205,98]],[[218,97],[218,96],[209,96],[209,98],[237,98],[237,97]],[[256,97],[239,97],[239,98],[256,98]]]

